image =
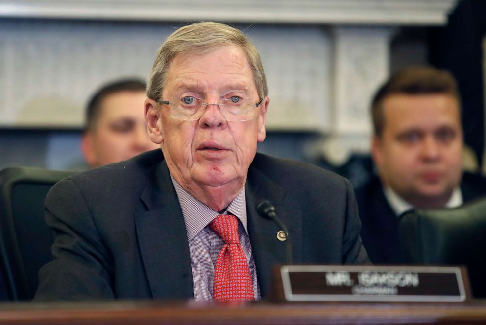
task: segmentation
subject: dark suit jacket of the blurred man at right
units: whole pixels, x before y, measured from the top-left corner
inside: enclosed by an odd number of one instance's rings
[[[464,202],[486,195],[486,178],[465,172],[461,182]],[[383,193],[378,177],[356,189],[361,238],[369,259],[377,264],[405,263],[398,240],[398,218]]]

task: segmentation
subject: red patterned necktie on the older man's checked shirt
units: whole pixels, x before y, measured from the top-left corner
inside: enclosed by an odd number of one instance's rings
[[[250,269],[238,237],[238,219],[231,214],[219,215],[209,227],[224,242],[214,270],[214,300],[253,300]]]

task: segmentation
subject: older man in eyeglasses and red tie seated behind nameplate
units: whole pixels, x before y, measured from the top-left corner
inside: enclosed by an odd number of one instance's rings
[[[36,300],[265,298],[287,259],[281,228],[257,212],[263,199],[287,225],[295,263],[368,262],[345,179],[256,153],[268,88],[242,32],[212,22],[176,30],[147,97],[149,137],[162,150],[49,192],[53,261]]]

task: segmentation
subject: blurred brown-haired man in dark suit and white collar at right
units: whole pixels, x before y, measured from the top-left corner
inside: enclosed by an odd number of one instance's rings
[[[432,67],[393,74],[375,94],[372,157],[379,178],[356,189],[361,237],[373,263],[402,263],[398,216],[453,208],[486,194],[486,179],[462,171],[460,96],[453,76]]]

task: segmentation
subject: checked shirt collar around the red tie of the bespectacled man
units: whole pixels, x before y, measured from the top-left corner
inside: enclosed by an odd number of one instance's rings
[[[209,208],[207,205],[197,200],[189,194],[179,183],[170,175],[172,184],[174,185],[177,198],[182,209],[182,215],[184,216],[184,222],[186,224],[187,237],[192,240],[201,230],[204,229],[214,218],[219,214]],[[246,195],[243,189],[238,195],[231,201],[226,211],[223,214],[235,215],[243,225],[245,232],[248,234],[247,222],[246,222]]]

